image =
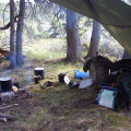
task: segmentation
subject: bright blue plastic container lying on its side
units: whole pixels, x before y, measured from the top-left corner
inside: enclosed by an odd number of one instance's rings
[[[82,80],[84,78],[90,78],[90,73],[88,72],[81,72],[81,71],[76,70],[74,72],[74,78],[78,80]]]

